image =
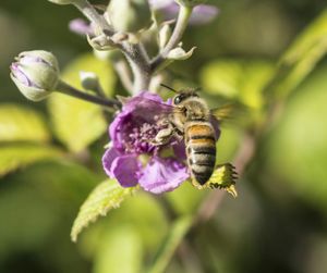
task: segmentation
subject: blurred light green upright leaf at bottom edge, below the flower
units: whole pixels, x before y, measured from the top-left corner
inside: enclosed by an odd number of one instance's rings
[[[119,225],[107,229],[95,257],[94,273],[138,273],[143,260],[143,244],[133,226]]]

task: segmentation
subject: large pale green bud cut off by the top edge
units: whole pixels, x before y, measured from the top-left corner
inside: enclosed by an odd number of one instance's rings
[[[152,24],[152,13],[147,0],[111,0],[108,15],[114,30],[136,33]]]

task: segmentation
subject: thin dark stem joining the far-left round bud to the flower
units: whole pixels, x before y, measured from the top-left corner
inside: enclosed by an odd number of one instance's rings
[[[109,99],[105,99],[105,98],[94,96],[94,95],[90,95],[87,92],[83,92],[62,80],[59,82],[56,91],[68,95],[68,96],[72,96],[74,98],[82,99],[82,100],[85,100],[85,101],[88,101],[88,102],[92,102],[95,104],[107,107],[114,111],[121,108],[121,103],[118,100],[109,100]]]

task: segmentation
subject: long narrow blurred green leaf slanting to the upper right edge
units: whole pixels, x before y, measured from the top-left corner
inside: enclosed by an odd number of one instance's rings
[[[327,52],[327,10],[295,39],[278,63],[265,94],[280,97],[292,91]]]

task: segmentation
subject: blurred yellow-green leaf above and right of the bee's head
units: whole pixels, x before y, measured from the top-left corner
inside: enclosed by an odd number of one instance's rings
[[[263,104],[262,89],[271,77],[272,65],[266,61],[225,59],[209,63],[201,73],[204,90],[238,99],[252,108]]]

